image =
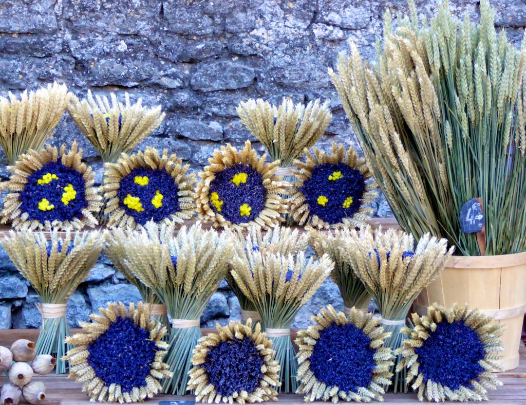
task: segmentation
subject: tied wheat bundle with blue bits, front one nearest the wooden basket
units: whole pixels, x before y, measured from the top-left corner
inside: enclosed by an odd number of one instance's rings
[[[446,239],[423,235],[416,248],[412,235],[389,229],[374,232],[370,227],[341,234],[340,254],[362,280],[381,313],[381,325],[391,336],[385,345],[393,350],[402,346],[400,333],[406,316],[420,291],[433,281],[453,254]],[[401,356],[395,359],[395,364]],[[395,372],[393,389],[407,391],[406,369]]]

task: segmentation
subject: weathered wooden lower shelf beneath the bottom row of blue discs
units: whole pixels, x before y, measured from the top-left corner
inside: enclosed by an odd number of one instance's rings
[[[203,329],[204,333],[214,331],[213,329]],[[76,332],[76,330],[72,331]],[[295,331],[292,335],[294,336]],[[2,330],[0,331],[0,346],[11,346],[11,343],[16,339],[30,339],[34,340],[38,336],[37,329],[16,329],[16,330]],[[501,381],[504,383],[503,387],[495,391],[489,392],[490,403],[524,403],[526,404],[526,348],[521,345],[520,348],[520,364],[515,370],[499,373]],[[88,397],[82,390],[82,384],[68,380],[66,376],[49,374],[45,377],[35,377],[35,380],[43,381],[46,384],[46,396],[49,400],[48,405],[62,404],[62,405],[87,405],[89,403]],[[0,387],[8,382],[4,374],[0,375]],[[300,405],[305,404],[303,397],[296,394],[281,394],[279,402],[287,404]],[[145,403],[155,404],[159,401],[194,401],[193,396],[169,396],[159,395],[154,399],[146,401]],[[419,403],[415,393],[392,393],[388,392],[384,396],[386,403]],[[22,403],[22,401],[21,401]],[[330,402],[328,402],[330,403]]]

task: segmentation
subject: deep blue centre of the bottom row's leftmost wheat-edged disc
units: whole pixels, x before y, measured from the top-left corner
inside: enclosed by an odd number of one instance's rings
[[[133,319],[118,317],[94,342],[89,343],[88,364],[106,386],[119,384],[123,392],[146,385],[156,346],[150,333]]]

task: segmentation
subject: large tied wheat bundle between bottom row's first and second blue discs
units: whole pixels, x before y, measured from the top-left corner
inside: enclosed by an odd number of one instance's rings
[[[169,226],[148,222],[140,231],[117,232],[114,243],[122,251],[122,265],[168,310],[171,331],[165,362],[174,375],[163,381],[163,392],[183,395],[192,350],[202,336],[199,318],[225,277],[234,254],[232,241],[226,232],[203,230],[200,222],[182,227],[175,237]]]

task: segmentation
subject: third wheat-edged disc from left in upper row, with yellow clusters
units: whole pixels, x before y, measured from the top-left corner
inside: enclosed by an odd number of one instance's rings
[[[283,220],[287,210],[281,197],[289,184],[275,175],[279,161],[265,163],[250,141],[237,150],[227,144],[214,150],[210,165],[199,173],[196,200],[199,216],[213,221],[214,227],[269,228]]]

